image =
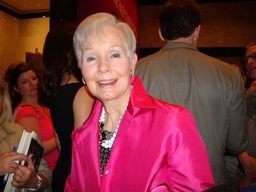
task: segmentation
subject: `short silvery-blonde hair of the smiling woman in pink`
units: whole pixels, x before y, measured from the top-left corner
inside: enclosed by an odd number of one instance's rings
[[[132,58],[136,51],[136,38],[130,26],[109,13],[95,13],[84,19],[74,34],[74,51],[79,65],[82,62],[84,44],[90,39],[92,33],[97,36],[102,35],[104,27],[113,27],[122,33],[127,54],[130,59]]]

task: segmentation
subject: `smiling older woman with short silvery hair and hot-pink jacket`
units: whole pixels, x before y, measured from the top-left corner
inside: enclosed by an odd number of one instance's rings
[[[147,95],[133,76],[131,28],[108,13],[74,35],[79,68],[97,97],[72,134],[65,191],[202,191],[214,186],[209,159],[187,109]]]

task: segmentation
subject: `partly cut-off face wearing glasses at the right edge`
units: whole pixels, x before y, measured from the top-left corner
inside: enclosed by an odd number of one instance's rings
[[[248,72],[248,77],[256,79],[256,45],[252,45],[246,50],[245,58],[248,58],[246,62],[246,70]]]

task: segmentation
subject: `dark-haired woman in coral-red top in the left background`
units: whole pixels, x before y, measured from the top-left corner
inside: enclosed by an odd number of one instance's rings
[[[7,68],[4,78],[8,83],[15,123],[24,126],[26,131],[38,134],[44,145],[44,159],[52,171],[59,152],[49,109],[39,104],[40,82],[36,70],[27,63],[17,61]]]

